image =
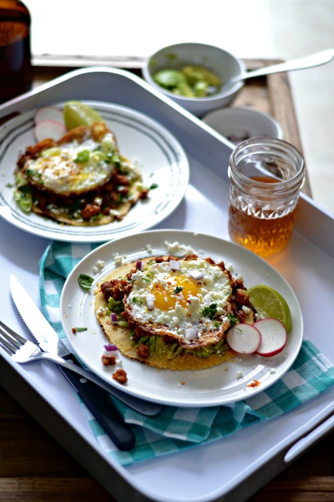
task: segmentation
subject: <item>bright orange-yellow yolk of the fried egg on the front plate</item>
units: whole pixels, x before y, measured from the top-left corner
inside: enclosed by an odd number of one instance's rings
[[[198,289],[194,281],[184,277],[166,279],[165,283],[153,286],[154,305],[160,310],[171,310],[177,302],[187,306],[190,296],[197,296]]]

